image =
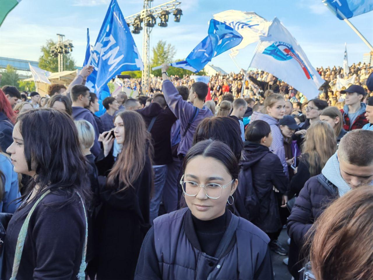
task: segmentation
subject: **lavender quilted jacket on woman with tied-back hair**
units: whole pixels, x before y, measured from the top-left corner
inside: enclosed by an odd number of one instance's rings
[[[257,121],[258,119],[265,121],[271,127],[272,133],[272,145],[269,147],[270,150],[273,150],[273,153],[280,158],[281,164],[283,166],[283,172],[285,172],[286,176],[289,177],[288,165],[286,164],[285,159],[285,148],[283,147],[283,136],[280,131],[279,121],[267,114],[263,114],[260,112],[254,112],[251,115],[250,122]]]

